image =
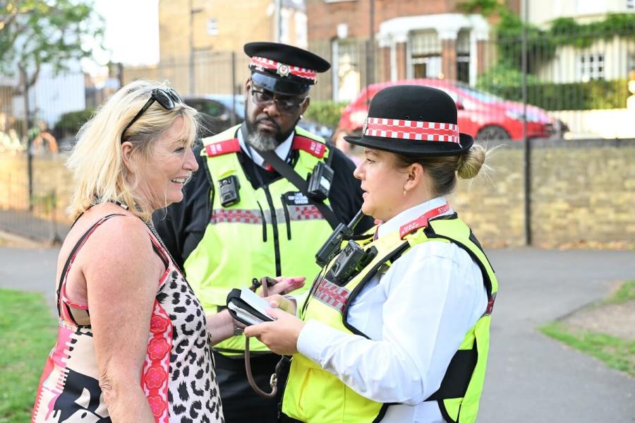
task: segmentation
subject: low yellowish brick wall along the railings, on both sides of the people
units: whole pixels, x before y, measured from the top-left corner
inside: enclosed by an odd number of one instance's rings
[[[459,181],[449,201],[484,245],[522,246],[523,144],[488,148],[494,171]],[[534,245],[635,248],[635,140],[535,140],[531,161]],[[25,169],[24,157],[0,155],[0,208],[28,204]],[[34,174],[37,195],[56,190],[61,218],[71,187],[62,158],[36,158]]]

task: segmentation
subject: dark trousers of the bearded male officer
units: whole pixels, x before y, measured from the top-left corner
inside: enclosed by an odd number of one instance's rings
[[[231,356],[234,357],[234,356]],[[262,398],[255,393],[247,381],[245,359],[243,356],[230,358],[214,352],[216,377],[219,384],[223,413],[227,423],[277,423],[295,422],[283,416],[278,419],[282,393],[289,376],[289,364],[282,367],[278,375],[278,393],[276,398]],[[255,383],[265,392],[271,392],[269,381],[274,373],[280,356],[265,354],[251,357],[251,374]]]

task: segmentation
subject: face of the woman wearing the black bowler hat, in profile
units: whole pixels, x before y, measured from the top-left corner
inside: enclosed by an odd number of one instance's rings
[[[404,189],[411,189],[413,181],[409,169],[397,166],[397,156],[383,150],[364,149],[364,160],[353,172],[361,180],[364,191],[362,211],[385,222],[411,207],[411,196],[404,196]]]

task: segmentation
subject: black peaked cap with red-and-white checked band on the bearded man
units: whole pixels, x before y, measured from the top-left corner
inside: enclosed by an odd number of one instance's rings
[[[328,61],[311,52],[277,42],[248,42],[251,79],[265,90],[283,95],[306,93],[317,83],[317,73],[328,71]]]

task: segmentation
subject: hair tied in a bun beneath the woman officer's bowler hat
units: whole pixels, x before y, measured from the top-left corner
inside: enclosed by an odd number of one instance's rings
[[[492,168],[485,164],[488,150],[482,145],[474,144],[460,155],[449,156],[406,156],[397,155],[397,166],[408,167],[419,163],[428,173],[431,189],[435,196],[446,196],[454,191],[456,176],[461,179],[476,177],[481,168],[489,172]]]

